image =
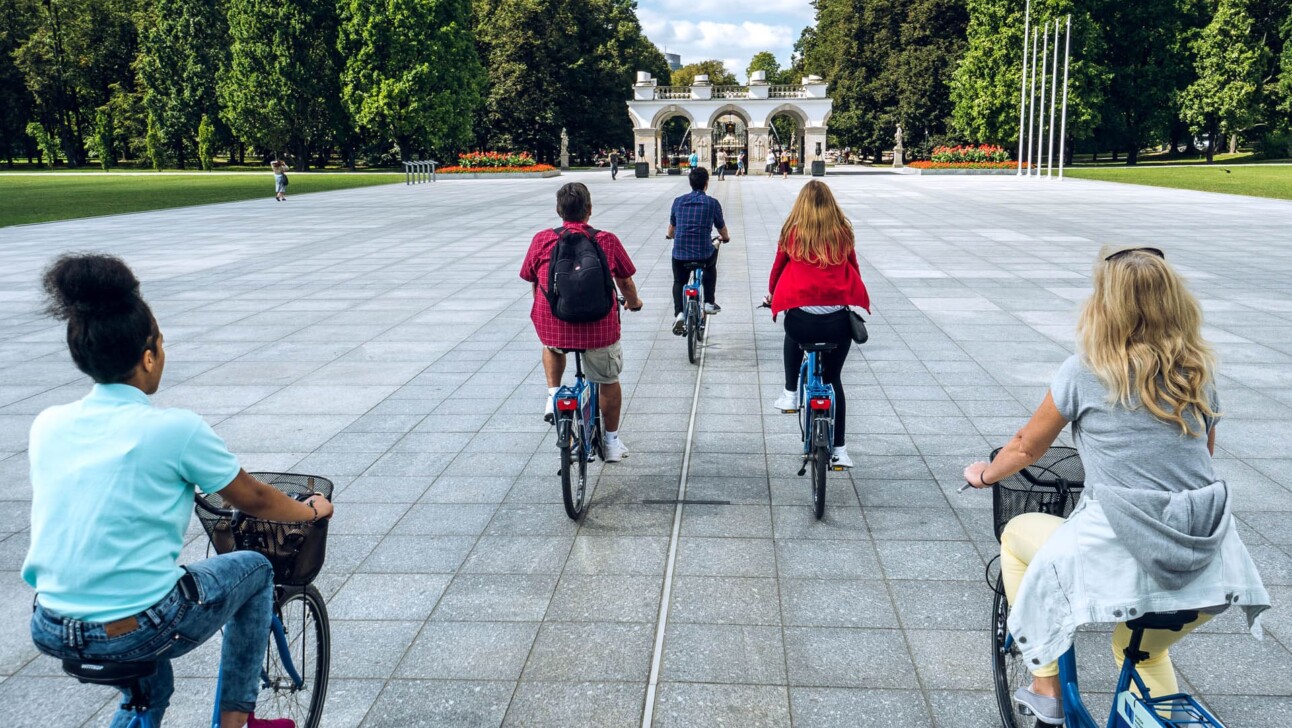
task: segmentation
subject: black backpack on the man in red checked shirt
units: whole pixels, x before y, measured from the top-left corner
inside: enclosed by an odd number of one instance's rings
[[[615,283],[597,231],[557,228],[557,244],[548,261],[548,290],[543,292],[552,316],[570,323],[601,321],[615,306]]]

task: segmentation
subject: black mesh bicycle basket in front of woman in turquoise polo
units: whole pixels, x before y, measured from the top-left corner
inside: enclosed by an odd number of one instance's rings
[[[332,481],[293,473],[251,473],[284,494],[304,499],[319,494],[332,498]],[[317,522],[265,521],[245,515],[229,515],[229,504],[218,493],[198,494],[198,520],[211,538],[216,553],[256,551],[274,568],[274,583],[305,586],[323,569],[327,553],[327,520]]]

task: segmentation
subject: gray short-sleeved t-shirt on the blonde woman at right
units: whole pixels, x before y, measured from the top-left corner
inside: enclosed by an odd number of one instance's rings
[[[1159,420],[1145,407],[1110,403],[1107,388],[1080,356],[1063,362],[1050,393],[1058,414],[1072,423],[1088,486],[1178,493],[1216,480],[1205,436],[1183,434],[1178,425]],[[1208,397],[1212,411],[1220,411],[1214,387]],[[1209,431],[1213,424],[1205,422],[1204,427]]]

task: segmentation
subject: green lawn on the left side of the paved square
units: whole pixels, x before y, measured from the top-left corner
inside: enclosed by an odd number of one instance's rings
[[[404,178],[402,173],[295,173],[289,177],[288,197],[388,185]],[[273,175],[0,175],[0,228],[257,198],[274,204]]]

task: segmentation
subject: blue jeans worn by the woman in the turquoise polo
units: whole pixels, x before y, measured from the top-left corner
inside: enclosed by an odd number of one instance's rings
[[[132,632],[109,637],[101,623],[63,618],[37,604],[31,616],[31,639],[40,652],[59,659],[155,661],[158,671],[143,680],[143,689],[152,725],[160,728],[174,693],[171,659],[193,652],[224,627],[220,710],[251,712],[269,645],[274,570],[267,559],[252,551],[225,553],[185,569],[193,574],[196,599],[186,597],[176,584],[138,616],[140,627]],[[123,693],[128,692],[123,688]],[[118,710],[112,728],[125,728],[130,718],[133,714]]]

